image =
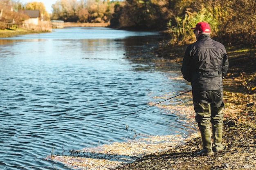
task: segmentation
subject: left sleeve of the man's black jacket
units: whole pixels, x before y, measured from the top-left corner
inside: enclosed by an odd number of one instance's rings
[[[191,70],[191,56],[190,56],[190,49],[191,47],[188,46],[186,48],[186,52],[182,61],[182,66],[181,66],[181,72],[183,74],[183,78],[188,81],[192,82],[192,70]]]

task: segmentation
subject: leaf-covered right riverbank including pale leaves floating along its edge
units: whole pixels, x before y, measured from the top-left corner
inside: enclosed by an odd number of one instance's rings
[[[156,48],[151,55],[182,62],[186,46]],[[51,159],[77,169],[98,170],[254,170],[256,169],[256,50],[253,47],[227,46],[229,72],[224,80],[224,130],[225,150],[208,156],[194,156],[202,149],[200,133],[192,138],[172,136],[138,143],[130,141],[104,145],[101,148],[85,148],[71,151],[70,156],[53,155]],[[162,60],[165,61],[165,60]],[[182,77],[171,77],[182,79]],[[191,94],[182,96],[180,105],[160,106],[176,110],[194,122]],[[181,116],[181,115],[179,115]],[[175,142],[173,142],[175,141]],[[185,142],[185,143],[182,143]],[[85,152],[86,150],[86,152]],[[72,155],[73,154],[73,155]],[[126,155],[126,156],[124,156]],[[127,160],[132,160],[129,163]]]

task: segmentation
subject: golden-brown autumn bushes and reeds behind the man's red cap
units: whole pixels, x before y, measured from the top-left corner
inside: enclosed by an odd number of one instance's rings
[[[171,41],[174,44],[194,42],[191,27],[206,21],[211,26],[211,36],[218,41],[256,44],[255,9],[255,0],[175,1],[175,17],[169,22]]]

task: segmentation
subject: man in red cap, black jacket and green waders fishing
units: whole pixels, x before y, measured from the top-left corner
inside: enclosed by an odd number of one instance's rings
[[[187,47],[181,71],[184,79],[191,82],[195,121],[202,136],[203,149],[195,155],[211,155],[213,151],[224,149],[222,77],[227,73],[229,62],[225,47],[210,38],[211,29],[207,22],[199,22],[191,29],[197,41]]]

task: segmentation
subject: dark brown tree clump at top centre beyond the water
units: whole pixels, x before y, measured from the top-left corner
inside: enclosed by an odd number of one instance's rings
[[[126,0],[119,11],[119,27],[166,29],[170,18],[167,0]]]

